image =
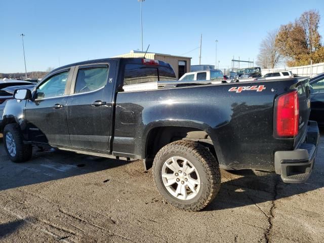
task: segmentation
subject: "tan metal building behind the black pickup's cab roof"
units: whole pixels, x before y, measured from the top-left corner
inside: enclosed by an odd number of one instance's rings
[[[144,57],[144,54],[145,52],[132,50],[130,53],[118,55],[115,57]],[[145,58],[170,63],[170,65],[173,67],[174,72],[176,73],[177,79],[179,79],[186,72],[190,72],[191,57],[181,57],[169,54],[148,52],[146,53]]]

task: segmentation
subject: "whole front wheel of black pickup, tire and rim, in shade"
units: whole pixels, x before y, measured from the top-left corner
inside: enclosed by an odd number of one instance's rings
[[[13,162],[20,163],[31,158],[31,145],[24,144],[18,124],[8,124],[4,129],[4,145]]]

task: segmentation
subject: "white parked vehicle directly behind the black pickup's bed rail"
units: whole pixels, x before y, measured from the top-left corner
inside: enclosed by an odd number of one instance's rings
[[[195,72],[187,72],[182,77],[179,78],[179,81],[199,81],[199,80],[213,80],[214,83],[226,83],[224,80],[224,74],[220,69],[211,69]]]

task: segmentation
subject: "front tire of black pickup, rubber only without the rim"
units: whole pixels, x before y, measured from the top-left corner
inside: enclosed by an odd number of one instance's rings
[[[16,155],[12,156],[7,148],[6,136],[10,132],[15,140],[16,144]],[[32,146],[29,144],[24,144],[21,130],[18,124],[8,124],[4,129],[4,146],[5,150],[10,157],[10,159],[15,163],[21,163],[27,161],[32,155]]]

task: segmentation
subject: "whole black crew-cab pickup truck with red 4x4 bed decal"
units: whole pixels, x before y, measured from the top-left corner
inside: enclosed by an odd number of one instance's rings
[[[4,145],[14,162],[32,146],[143,159],[170,204],[197,211],[216,196],[220,169],[275,172],[304,182],[319,132],[309,121],[308,80],[244,84],[174,80],[172,67],[111,58],[53,70],[16,90],[4,110]]]

